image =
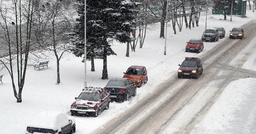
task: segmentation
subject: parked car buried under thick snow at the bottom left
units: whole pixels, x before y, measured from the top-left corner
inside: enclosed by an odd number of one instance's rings
[[[75,132],[75,120],[63,112],[47,111],[37,114],[27,125],[26,134],[71,134]]]

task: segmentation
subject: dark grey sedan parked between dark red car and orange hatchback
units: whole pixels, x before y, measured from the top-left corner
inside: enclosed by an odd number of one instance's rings
[[[129,97],[136,96],[137,88],[128,78],[112,78],[103,90],[110,93],[111,99],[128,101]]]

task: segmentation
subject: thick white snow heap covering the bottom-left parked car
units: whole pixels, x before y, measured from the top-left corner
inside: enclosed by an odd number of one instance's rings
[[[32,122],[27,126],[58,130],[68,124],[69,119],[63,112],[45,111],[37,114]]]

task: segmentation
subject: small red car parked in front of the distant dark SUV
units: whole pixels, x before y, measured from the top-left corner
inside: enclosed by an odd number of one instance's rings
[[[203,41],[202,40],[190,40],[187,42],[185,52],[197,52],[200,53],[203,51]]]

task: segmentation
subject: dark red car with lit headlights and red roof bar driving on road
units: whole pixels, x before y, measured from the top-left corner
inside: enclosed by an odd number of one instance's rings
[[[185,57],[182,64],[178,66],[181,66],[178,69],[178,78],[193,77],[197,79],[203,73],[203,64],[198,57]]]

